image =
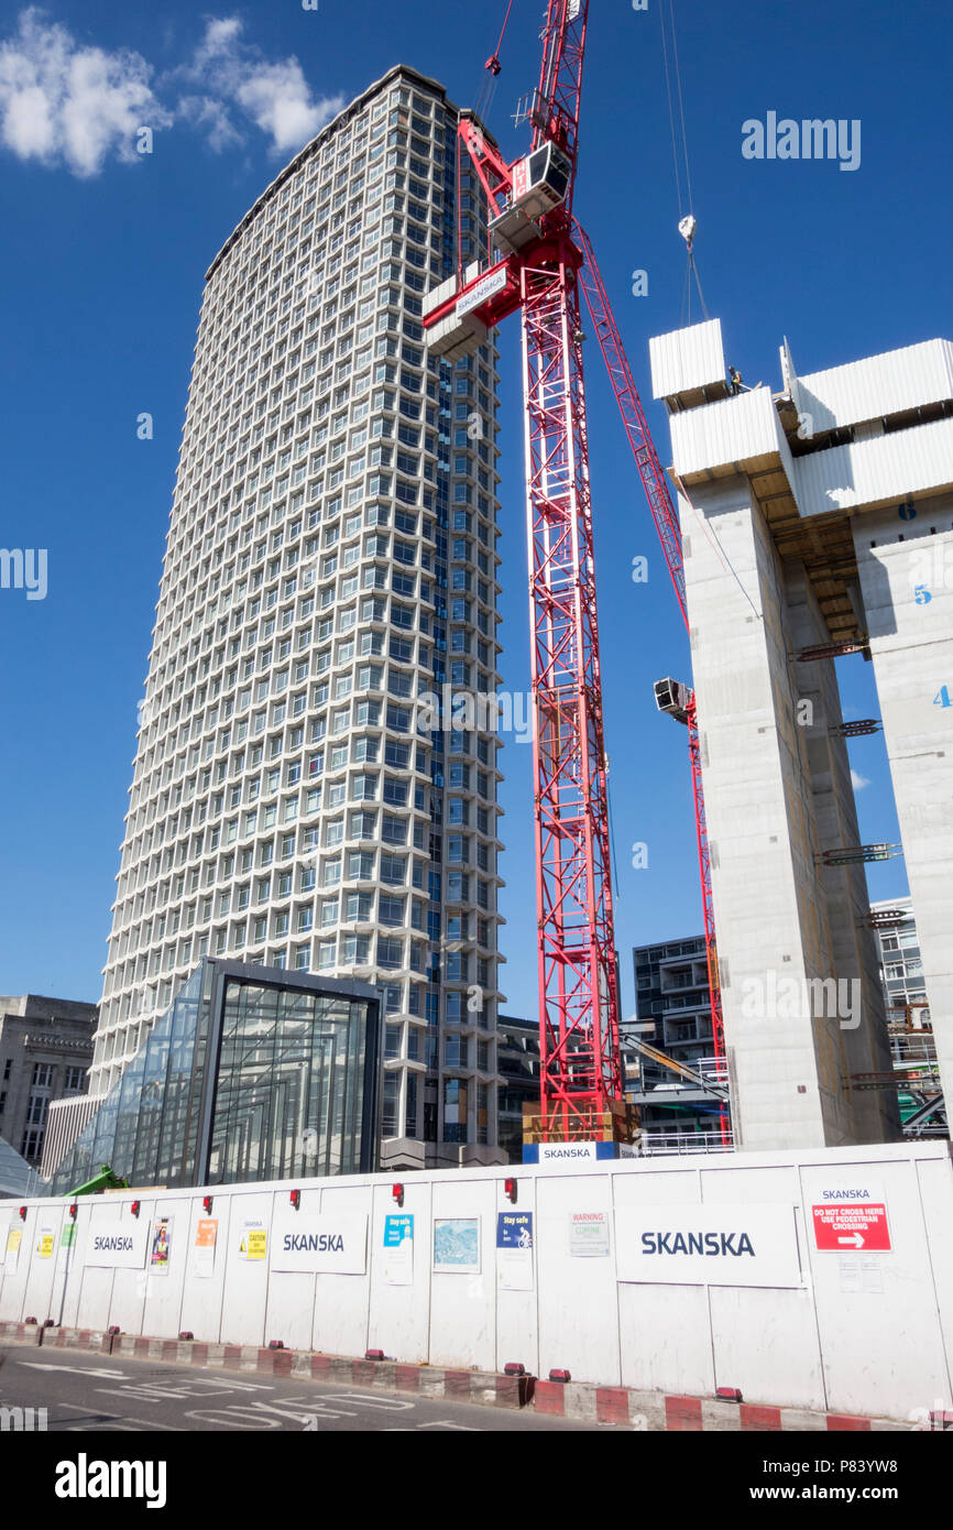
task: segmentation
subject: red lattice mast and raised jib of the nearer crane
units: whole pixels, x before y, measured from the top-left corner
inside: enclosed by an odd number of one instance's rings
[[[532,148],[560,171],[561,200],[538,219],[520,263],[526,540],[535,715],[535,845],[540,979],[540,1134],[612,1135],[621,1102],[612,923],[609,794],[595,603],[589,436],[572,242],[572,191],[587,0],[549,0]]]

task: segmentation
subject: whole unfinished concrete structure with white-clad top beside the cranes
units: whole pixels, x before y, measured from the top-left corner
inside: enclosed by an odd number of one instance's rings
[[[730,393],[720,324],[652,341],[672,424],[736,1143],[899,1134],[835,656],[873,662],[953,1080],[953,346]],[[808,658],[805,658],[808,655]],[[855,662],[863,662],[858,656]],[[849,725],[847,725],[849,728]],[[841,852],[855,851],[854,858]]]

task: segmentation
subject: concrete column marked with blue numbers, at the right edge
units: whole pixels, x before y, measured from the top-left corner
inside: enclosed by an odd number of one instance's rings
[[[953,496],[864,511],[854,520],[854,543],[930,1019],[950,1102]]]

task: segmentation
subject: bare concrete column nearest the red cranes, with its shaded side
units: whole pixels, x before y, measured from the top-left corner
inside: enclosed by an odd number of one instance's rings
[[[864,1056],[866,1068],[870,1050],[854,1034],[837,979],[861,982],[863,998],[867,962],[847,939],[851,915],[831,926],[815,794],[825,760],[812,773],[789,658],[794,630],[814,627],[817,612],[802,600],[791,614],[785,569],[745,477],[691,493],[694,508],[681,505],[685,584],[739,1146],[881,1140],[883,1112],[858,1108],[863,1097],[843,1088],[854,1059]],[[812,641],[823,638],[814,632]],[[815,684],[835,695],[832,673]],[[835,754],[828,768],[834,760],[843,773],[846,757]],[[838,814],[841,799],[832,799]],[[826,835],[841,832],[825,825]],[[852,884],[855,900],[864,901]],[[883,1031],[867,998],[857,1031]]]

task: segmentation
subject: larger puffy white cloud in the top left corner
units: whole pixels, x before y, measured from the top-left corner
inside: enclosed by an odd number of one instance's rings
[[[139,54],[81,46],[31,6],[0,44],[0,141],[18,159],[84,177],[112,156],[136,159],[136,130],[171,121],[151,73]]]

